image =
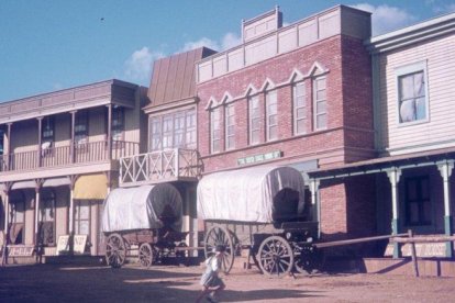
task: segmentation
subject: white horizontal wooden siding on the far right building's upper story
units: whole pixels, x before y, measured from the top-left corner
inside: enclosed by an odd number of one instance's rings
[[[390,155],[455,145],[455,36],[386,53],[380,58],[380,142]],[[426,60],[429,122],[398,125],[396,68]]]

